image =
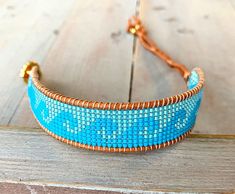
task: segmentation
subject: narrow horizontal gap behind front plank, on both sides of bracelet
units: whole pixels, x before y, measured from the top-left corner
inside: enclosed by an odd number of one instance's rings
[[[15,129],[17,131],[41,131],[41,128],[31,128],[31,127],[20,127],[20,126],[4,126],[0,125],[0,130]],[[41,131],[43,132],[43,131]],[[44,132],[43,132],[44,133]],[[187,138],[198,138],[198,139],[235,139],[235,134],[189,134]]]

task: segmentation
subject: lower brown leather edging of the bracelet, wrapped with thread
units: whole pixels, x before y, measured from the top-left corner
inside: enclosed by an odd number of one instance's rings
[[[146,151],[149,151],[149,150],[158,150],[158,149],[165,148],[167,146],[176,144],[177,142],[185,139],[192,131],[192,129],[190,129],[186,133],[180,135],[179,137],[177,137],[175,139],[172,139],[170,141],[166,141],[162,144],[156,144],[156,145],[152,145],[152,146],[133,147],[133,148],[112,148],[112,147],[109,148],[109,147],[102,147],[102,146],[86,145],[86,144],[82,144],[82,143],[79,143],[79,142],[76,142],[76,141],[72,141],[72,140],[63,138],[61,136],[56,135],[55,133],[52,133],[47,128],[43,127],[41,125],[41,123],[37,120],[36,117],[35,117],[35,119],[36,119],[37,123],[39,124],[39,126],[48,135],[52,136],[56,140],[59,140],[59,141],[61,141],[63,143],[66,143],[68,145],[72,145],[74,147],[83,148],[83,149],[92,150],[92,151],[101,151],[101,152],[146,152]]]

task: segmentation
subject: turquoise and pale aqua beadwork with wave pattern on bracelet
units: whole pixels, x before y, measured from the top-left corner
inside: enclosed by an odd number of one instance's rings
[[[187,87],[199,83],[192,71]],[[203,90],[173,104],[137,110],[101,110],[63,103],[42,93],[30,77],[28,95],[35,118],[49,133],[79,145],[129,149],[161,145],[192,129]],[[80,146],[81,147],[81,146]]]

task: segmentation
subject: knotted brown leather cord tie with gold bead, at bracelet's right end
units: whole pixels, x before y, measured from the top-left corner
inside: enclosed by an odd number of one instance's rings
[[[147,50],[165,61],[171,68],[177,69],[183,76],[185,81],[188,80],[188,77],[190,75],[189,70],[185,67],[185,65],[175,62],[170,56],[168,56],[160,48],[157,47],[157,45],[147,35],[147,32],[139,18],[133,16],[131,19],[128,20],[127,31],[132,33],[133,35],[136,35],[139,38],[140,43]]]

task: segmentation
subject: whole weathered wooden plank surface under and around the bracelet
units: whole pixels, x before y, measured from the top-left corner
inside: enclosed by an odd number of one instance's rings
[[[138,154],[76,149],[45,134],[18,77],[33,59],[43,82],[89,100],[153,100],[185,90],[177,72],[126,34],[139,14],[176,61],[202,67],[193,133]],[[3,193],[233,193],[235,0],[0,0],[0,191]]]

